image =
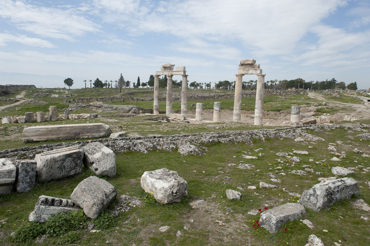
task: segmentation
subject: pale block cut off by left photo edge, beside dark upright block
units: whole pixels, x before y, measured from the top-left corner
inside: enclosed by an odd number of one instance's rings
[[[10,194],[16,182],[16,166],[8,158],[0,159],[0,194]]]

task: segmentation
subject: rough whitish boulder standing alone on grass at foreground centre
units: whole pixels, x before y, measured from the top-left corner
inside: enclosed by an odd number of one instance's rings
[[[180,202],[182,197],[188,195],[188,182],[167,168],[144,172],[140,185],[155,200],[164,204]]]

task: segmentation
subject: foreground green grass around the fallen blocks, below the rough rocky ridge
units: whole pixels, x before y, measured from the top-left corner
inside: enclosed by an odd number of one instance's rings
[[[324,161],[321,164],[310,162],[327,160],[333,157],[327,150],[329,142],[337,140],[343,141],[343,145],[337,144],[338,152],[346,151],[347,157],[340,162],[341,166],[349,167],[363,165],[368,167],[370,158],[364,158],[355,154],[351,150],[360,148],[369,152],[370,141],[360,141],[356,135],[361,132],[349,132],[345,129],[314,132],[310,134],[322,137],[326,141],[309,141],[309,144],[294,142],[293,139],[266,139],[266,141],[254,140],[253,145],[239,144],[211,144],[205,145],[208,149],[206,155],[202,156],[181,156],[176,150],[169,151],[150,151],[148,154],[139,152],[125,152],[116,154],[117,176],[106,178],[118,190],[118,195],[127,194],[138,196],[146,201],[145,205],[136,207],[128,212],[121,213],[116,220],[117,226],[100,233],[88,233],[79,231],[73,244],[75,245],[106,245],[109,240],[115,245],[305,245],[308,236],[315,234],[319,236],[326,245],[342,240],[351,245],[367,245],[370,232],[369,222],[360,219],[362,214],[369,215],[368,212],[356,210],[351,207],[350,201],[343,201],[330,206],[330,209],[313,212],[307,210],[307,214],[300,219],[309,219],[314,224],[314,230],[302,225],[299,220],[293,223],[288,222],[276,234],[267,233],[261,228],[254,228],[253,220],[258,220],[259,216],[247,215],[251,209],[268,208],[282,205],[286,202],[296,202],[294,196],[290,196],[282,188],[289,192],[302,193],[318,183],[318,176],[315,173],[307,173],[306,176],[299,176],[288,173],[292,170],[304,170],[302,165],[311,165],[315,172],[323,172],[323,177],[333,176],[331,168],[338,165],[332,161]],[[312,142],[312,143],[311,143]],[[313,148],[308,148],[311,145]],[[352,145],[352,146],[349,146]],[[254,149],[263,148],[264,155],[258,159],[247,160],[242,158],[243,151],[250,152],[257,156],[259,152]],[[292,152],[293,149],[307,150],[309,155],[299,155],[302,161],[290,166],[288,161],[280,164],[276,159],[276,152]],[[233,157],[235,156],[235,158]],[[280,157],[280,159],[283,159]],[[358,162],[354,162],[357,160]],[[234,163],[238,165],[240,161],[256,166],[251,170],[239,169],[236,166],[228,166]],[[289,165],[286,165],[289,164]],[[260,189],[259,182],[272,183],[268,173],[277,173],[275,169],[281,166],[286,176],[276,175],[281,180],[276,190]],[[179,176],[188,182],[188,196],[182,202],[171,205],[161,205],[151,200],[145,195],[140,187],[140,177],[144,171],[155,170],[166,167],[177,171]],[[259,169],[260,171],[257,171]],[[364,199],[370,203],[369,187],[365,182],[370,178],[369,173],[361,173],[361,169],[356,171],[353,176],[360,186],[360,195],[357,198]],[[196,172],[194,172],[196,171]],[[203,172],[204,171],[204,172]],[[220,172],[221,171],[221,172]],[[280,172],[280,171],[279,171]],[[0,218],[9,218],[1,231],[5,235],[18,228],[27,220],[28,213],[33,210],[38,196],[48,195],[60,198],[69,198],[75,186],[84,178],[90,176],[91,171],[84,170],[80,177],[60,179],[53,183],[37,184],[30,192],[13,193],[1,196],[0,198]],[[226,178],[229,177],[229,178]],[[246,189],[249,185],[257,186],[256,190]],[[241,187],[242,199],[232,202],[226,199],[225,190]],[[258,193],[259,195],[255,194]],[[200,208],[192,209],[188,201],[204,199],[204,205]],[[295,201],[293,201],[295,200]],[[226,208],[231,208],[235,213],[226,215]],[[10,211],[9,211],[10,210]],[[220,212],[219,212],[220,211]],[[342,216],[343,218],[341,218]],[[193,220],[191,222],[191,220]],[[222,220],[225,226],[219,226],[215,220]],[[160,232],[161,226],[168,225],[170,228],[166,232]],[[244,226],[245,225],[245,226]],[[184,226],[188,230],[184,229]],[[259,231],[257,231],[259,229]],[[329,232],[322,232],[327,229]],[[176,236],[177,231],[181,231],[180,237]],[[230,233],[231,232],[231,233]],[[84,237],[84,235],[87,235]],[[50,243],[59,240],[48,239]],[[3,239],[2,244],[9,242],[9,237]],[[30,242],[31,244],[31,242]],[[44,243],[45,244],[45,243]]]

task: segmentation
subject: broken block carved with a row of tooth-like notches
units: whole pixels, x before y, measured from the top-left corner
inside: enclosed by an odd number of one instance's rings
[[[43,223],[50,218],[51,215],[69,213],[80,209],[81,208],[72,200],[51,196],[39,196],[35,204],[35,209],[28,216],[28,221]]]

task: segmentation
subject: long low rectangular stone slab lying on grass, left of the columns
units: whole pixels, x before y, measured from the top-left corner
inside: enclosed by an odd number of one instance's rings
[[[24,142],[55,139],[100,138],[111,134],[111,128],[103,123],[40,125],[23,129]]]

